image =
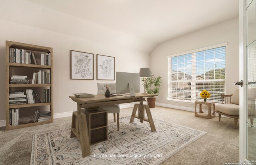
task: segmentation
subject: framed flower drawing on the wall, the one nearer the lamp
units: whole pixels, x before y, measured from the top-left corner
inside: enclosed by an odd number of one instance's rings
[[[115,57],[97,54],[97,80],[115,80]]]

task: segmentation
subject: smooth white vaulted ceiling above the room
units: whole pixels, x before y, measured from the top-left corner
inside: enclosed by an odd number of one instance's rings
[[[238,0],[27,0],[160,44],[238,17]]]

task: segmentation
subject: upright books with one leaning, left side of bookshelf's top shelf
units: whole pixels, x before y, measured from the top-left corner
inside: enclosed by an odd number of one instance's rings
[[[32,58],[34,64],[37,64],[34,53],[24,49],[9,48],[9,62],[18,64],[32,64]]]

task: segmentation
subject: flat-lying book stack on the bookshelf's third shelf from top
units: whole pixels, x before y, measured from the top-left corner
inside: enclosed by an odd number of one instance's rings
[[[23,91],[9,93],[9,105],[26,104],[27,95]]]

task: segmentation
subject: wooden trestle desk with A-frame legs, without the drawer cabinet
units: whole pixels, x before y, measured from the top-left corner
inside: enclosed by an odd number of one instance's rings
[[[112,104],[122,104],[122,103],[132,103],[132,102],[140,102],[139,104],[134,104],[134,108],[132,111],[130,123],[134,121],[134,118],[140,119],[140,122],[147,121],[150,123],[151,131],[156,131],[154,121],[150,112],[148,105],[143,105],[143,101],[146,101],[144,97],[154,97],[157,95],[153,94],[140,94],[136,93],[134,97],[126,97],[126,96],[115,96],[115,97],[105,97],[104,95],[95,95],[95,97],[86,97],[86,98],[78,98],[75,96],[69,96],[73,101],[77,103],[77,111],[73,112],[72,116],[72,128],[70,137],[77,137],[81,143],[82,156],[86,157],[91,155],[90,152],[90,142],[88,136],[88,128],[86,122],[86,115],[81,113],[81,108],[89,108],[89,107],[97,107],[100,105],[112,105]],[[138,115],[136,115],[136,111],[138,108]],[[148,118],[145,118],[145,112]]]

